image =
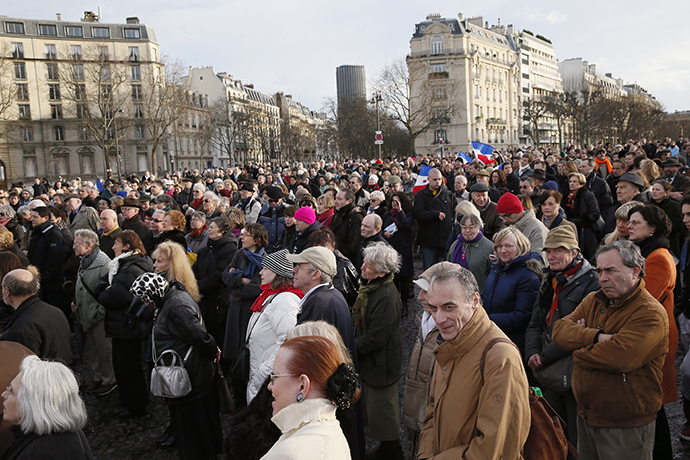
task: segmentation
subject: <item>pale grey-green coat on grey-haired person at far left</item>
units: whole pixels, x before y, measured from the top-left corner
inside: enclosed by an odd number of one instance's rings
[[[99,250],[96,260],[86,270],[82,270],[80,267],[77,272],[77,284],[74,289],[75,303],[77,304],[75,313],[77,321],[84,331],[88,331],[105,318],[105,308],[89,294],[89,291],[84,288],[84,284],[95,294],[96,282],[108,273],[108,263],[110,263],[110,257]]]

